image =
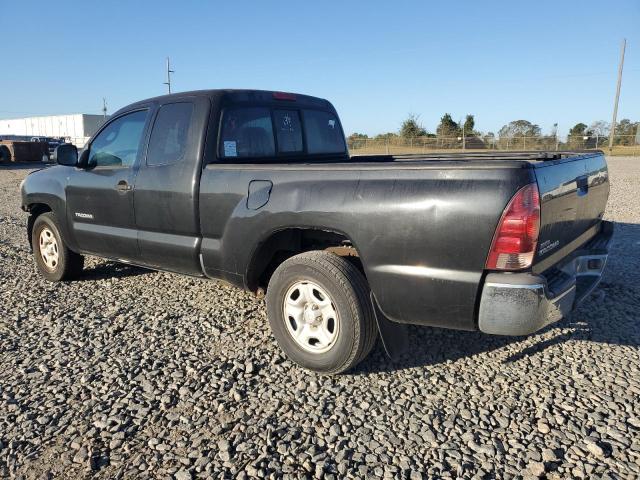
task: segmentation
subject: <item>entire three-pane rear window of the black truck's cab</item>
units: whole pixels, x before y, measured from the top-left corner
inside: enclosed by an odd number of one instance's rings
[[[228,107],[222,113],[218,157],[233,161],[346,153],[337,116],[323,110]]]

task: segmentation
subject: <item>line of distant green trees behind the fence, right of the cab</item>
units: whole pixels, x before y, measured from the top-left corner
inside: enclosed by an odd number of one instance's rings
[[[616,123],[615,129],[615,145],[634,145],[636,141],[640,141],[638,137],[639,134],[640,122],[633,122],[628,118],[620,120]],[[600,142],[608,141],[608,136],[611,131],[611,124],[609,122],[605,122],[604,120],[598,120],[592,122],[590,125],[586,123],[579,122],[575,124],[569,130],[568,142],[577,142],[577,141],[589,141],[589,142],[597,142],[598,139]],[[542,129],[539,125],[530,122],[529,120],[513,120],[506,125],[504,125],[500,130],[498,130],[498,134],[496,135],[494,132],[481,132],[476,130],[475,126],[475,116],[474,115],[466,115],[464,121],[456,122],[453,120],[449,113],[445,113],[440,118],[440,123],[436,128],[435,133],[431,133],[427,131],[427,129],[420,122],[420,117],[416,114],[409,114],[407,118],[400,125],[400,129],[397,132],[387,132],[375,135],[374,137],[369,137],[363,133],[353,133],[348,139],[350,141],[356,140],[393,140],[393,139],[420,139],[420,138],[442,138],[444,139],[457,139],[458,137],[465,138],[476,138],[482,139],[483,142],[491,143],[492,141],[509,141],[510,139],[518,139],[518,138],[531,138],[532,140],[542,139],[544,137],[558,137],[558,124],[554,124],[551,132],[547,135],[542,134]],[[584,137],[588,137],[586,140]],[[600,143],[602,145],[603,143]]]

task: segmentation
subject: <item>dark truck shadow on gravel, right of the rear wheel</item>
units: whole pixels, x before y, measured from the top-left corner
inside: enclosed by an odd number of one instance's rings
[[[392,372],[495,351],[508,364],[567,341],[640,349],[640,225],[616,222],[609,261],[598,288],[568,318],[528,337],[408,326],[409,347],[389,359],[380,342],[352,374]],[[507,350],[500,352],[500,350]]]

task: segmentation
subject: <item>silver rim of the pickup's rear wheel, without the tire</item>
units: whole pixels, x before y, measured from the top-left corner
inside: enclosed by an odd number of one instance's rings
[[[335,345],[340,330],[334,303],[318,284],[298,281],[284,297],[283,318],[291,338],[305,351],[324,353]]]

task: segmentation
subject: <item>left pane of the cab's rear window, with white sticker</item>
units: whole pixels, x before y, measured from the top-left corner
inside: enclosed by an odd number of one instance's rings
[[[269,109],[226,109],[218,149],[221,158],[274,156],[276,147]]]

